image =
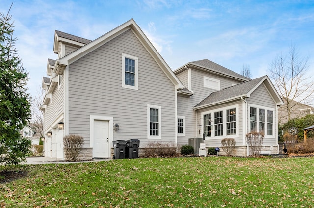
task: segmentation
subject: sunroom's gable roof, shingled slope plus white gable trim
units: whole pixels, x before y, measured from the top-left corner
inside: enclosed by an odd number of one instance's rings
[[[240,84],[225,88],[223,90],[213,92],[199,104],[195,105],[193,109],[197,110],[215,104],[250,97],[251,93],[262,83],[265,83],[265,86],[267,87],[268,91],[275,99],[276,104],[282,105],[283,104],[282,99],[280,98],[279,94],[273,87],[273,84],[271,83],[270,79],[266,75],[260,78],[252,79],[250,81],[242,82]]]

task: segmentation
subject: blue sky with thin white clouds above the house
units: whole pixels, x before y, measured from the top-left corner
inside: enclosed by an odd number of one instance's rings
[[[29,72],[31,95],[46,75],[54,30],[94,40],[133,18],[172,70],[209,59],[252,78],[268,74],[291,45],[314,72],[312,0],[0,0],[15,21],[16,48]]]

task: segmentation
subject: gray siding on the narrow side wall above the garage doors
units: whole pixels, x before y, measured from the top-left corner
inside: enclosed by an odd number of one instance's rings
[[[56,75],[57,76],[57,75]],[[55,119],[63,113],[64,110],[64,76],[61,78],[61,85],[56,86],[54,92],[52,93],[52,99],[50,103],[47,104],[46,110],[44,112],[44,130],[49,130]]]

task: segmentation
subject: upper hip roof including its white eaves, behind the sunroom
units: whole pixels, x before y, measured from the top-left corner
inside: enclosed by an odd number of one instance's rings
[[[218,74],[220,76],[239,79],[241,81],[251,80],[250,78],[244,77],[243,75],[240,75],[240,74],[238,74],[238,73],[236,73],[230,69],[227,69],[226,67],[223,67],[219,64],[216,64],[212,61],[209,61],[208,59],[189,62],[189,63],[185,64],[184,66],[176,69],[174,71],[174,73],[175,74],[180,73],[182,70],[185,69],[185,67],[198,68],[198,69],[210,71],[210,72],[212,72],[214,74]]]

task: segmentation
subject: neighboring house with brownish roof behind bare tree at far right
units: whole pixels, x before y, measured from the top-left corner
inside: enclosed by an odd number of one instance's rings
[[[314,114],[314,107],[311,107],[306,104],[302,104],[300,102],[287,99],[286,97],[282,97],[285,105],[282,105],[278,109],[278,123],[285,124],[289,120],[287,107],[291,106],[291,114],[290,119],[301,118],[308,114]],[[287,104],[289,103],[289,105]]]

